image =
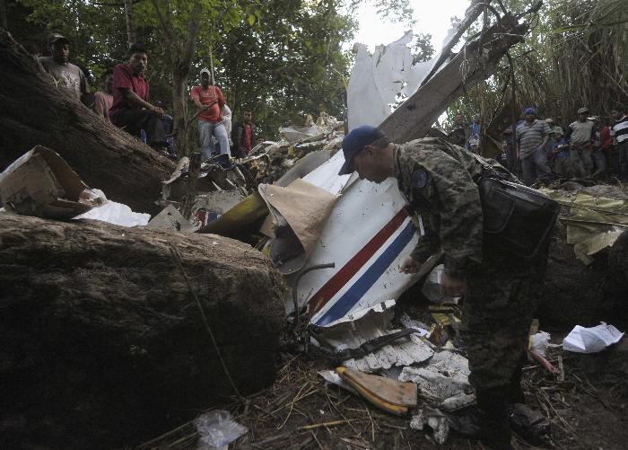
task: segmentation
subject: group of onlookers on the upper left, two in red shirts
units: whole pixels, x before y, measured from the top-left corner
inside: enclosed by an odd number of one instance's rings
[[[91,93],[83,70],[69,62],[69,41],[65,36],[52,33],[48,48],[50,56],[38,59],[57,86],[83,101],[103,120],[142,138],[156,150],[165,154],[172,151],[172,135],[176,134],[171,129],[172,118],[164,112],[161,102],[149,100],[150,86],[144,76],[148,52],[144,46],[131,45],[128,62],[106,71],[102,89],[96,93]],[[244,110],[243,120],[231,132],[231,109],[209,70],[201,70],[200,82],[192,88],[190,98],[196,106],[203,159],[214,154],[246,156],[257,144],[252,112]]]

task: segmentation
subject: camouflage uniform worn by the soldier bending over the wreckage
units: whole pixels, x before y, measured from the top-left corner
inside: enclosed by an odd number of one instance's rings
[[[441,250],[445,271],[467,278],[462,331],[478,405],[500,410],[505,402],[521,402],[520,368],[546,256],[529,261],[483,248],[483,213],[474,181],[483,169],[473,154],[431,137],[395,146],[395,151],[399,190],[423,218],[425,234],[413,258],[423,262]]]

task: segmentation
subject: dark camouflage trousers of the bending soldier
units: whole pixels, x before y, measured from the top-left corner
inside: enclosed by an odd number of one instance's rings
[[[467,280],[461,331],[475,392],[519,389],[546,257],[536,267],[512,260],[485,261]]]

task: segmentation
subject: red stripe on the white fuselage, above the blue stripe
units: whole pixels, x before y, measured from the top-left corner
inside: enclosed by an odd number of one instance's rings
[[[345,284],[353,278],[353,276],[362,268],[368,260],[375,254],[379,248],[388,241],[388,238],[404,223],[408,216],[406,209],[401,209],[393,218],[390,219],[388,224],[379,230],[378,234],[375,234],[371,241],[362,247],[361,251],[355,253],[351,260],[348,260],[345,266],[338,270],[336,274],[327,280],[327,283],[318,292],[312,296],[312,303],[310,305],[309,316],[313,316],[315,313],[327,304],[327,302],[336,296],[337,292],[345,286]]]

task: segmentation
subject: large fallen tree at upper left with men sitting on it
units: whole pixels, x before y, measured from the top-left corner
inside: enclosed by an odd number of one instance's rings
[[[153,204],[175,164],[57,89],[35,57],[0,29],[0,171],[33,146],[64,157],[109,199],[155,214]]]

